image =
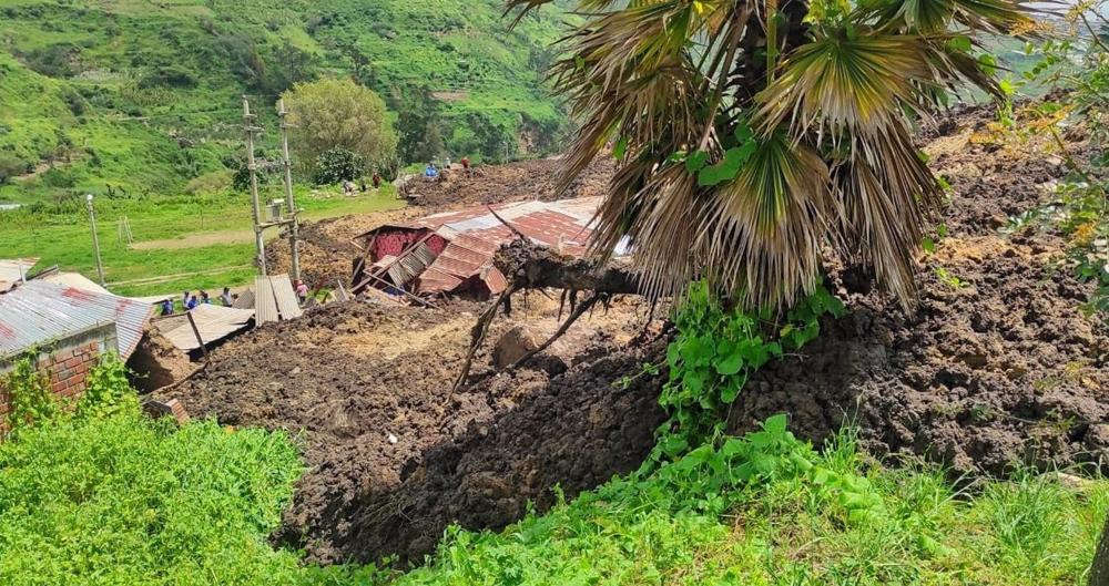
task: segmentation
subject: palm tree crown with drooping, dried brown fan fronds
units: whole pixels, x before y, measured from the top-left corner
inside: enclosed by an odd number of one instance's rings
[[[508,0],[518,18],[551,0]],[[974,85],[1000,96],[983,34],[1028,34],[1015,0],[578,0],[552,69],[581,128],[562,179],[606,145],[619,168],[593,250],[624,236],[653,294],[694,278],[790,304],[825,250],[912,304],[913,253],[943,191],[917,121]]]

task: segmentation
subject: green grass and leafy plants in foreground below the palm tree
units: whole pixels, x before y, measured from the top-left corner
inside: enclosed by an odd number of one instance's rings
[[[957,492],[934,469],[865,463],[848,435],[805,458],[862,489],[844,498],[810,474],[708,492],[617,479],[500,533],[449,531],[396,584],[1079,585],[1109,510],[1105,481],[1021,474]],[[875,514],[851,514],[859,495]]]

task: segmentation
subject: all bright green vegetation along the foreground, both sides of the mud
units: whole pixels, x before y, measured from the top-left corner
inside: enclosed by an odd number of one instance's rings
[[[729,440],[615,477],[502,532],[450,528],[410,572],[319,568],[267,535],[302,464],[282,432],[134,409],[0,444],[0,582],[360,586],[1082,584],[1109,483],[1018,474],[956,491],[886,467],[849,434],[816,453],[783,433]]]

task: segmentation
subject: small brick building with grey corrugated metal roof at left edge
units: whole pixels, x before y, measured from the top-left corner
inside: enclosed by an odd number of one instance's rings
[[[101,356],[131,357],[153,312],[142,301],[64,284],[32,279],[18,285],[0,294],[0,376],[34,352],[53,392],[75,399]],[[9,400],[0,387],[0,422]]]

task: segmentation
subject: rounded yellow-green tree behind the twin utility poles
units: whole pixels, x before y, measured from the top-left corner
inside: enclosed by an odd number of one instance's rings
[[[299,168],[307,171],[321,154],[337,146],[384,165],[396,155],[397,135],[385,102],[350,80],[298,83],[283,94],[289,111],[289,146]]]

